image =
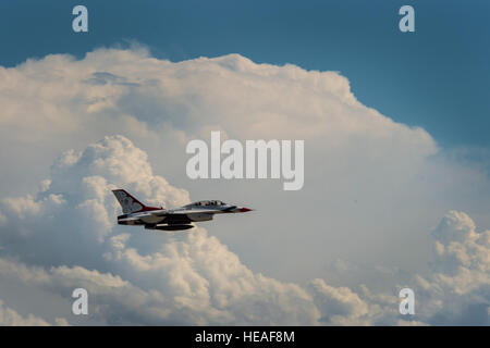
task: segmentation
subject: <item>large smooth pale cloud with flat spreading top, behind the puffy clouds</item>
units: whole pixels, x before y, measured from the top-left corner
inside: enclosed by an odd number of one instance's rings
[[[82,60],[53,54],[0,67],[0,142],[15,149],[0,153],[9,163],[2,195],[35,191],[59,153],[120,134],[195,200],[267,211],[253,217],[267,234],[225,220],[213,235],[254,270],[284,281],[331,276],[326,266],[339,258],[413,272],[426,266],[430,248],[420,240],[446,211],[490,223],[485,173],[448,162],[422,128],[364,105],[336,72],[238,54],[173,63],[144,49],[100,49]],[[238,140],[304,139],[304,188],[285,195],[281,181],[188,179],[185,146],[209,140],[210,130]],[[131,165],[142,174],[138,161]]]

